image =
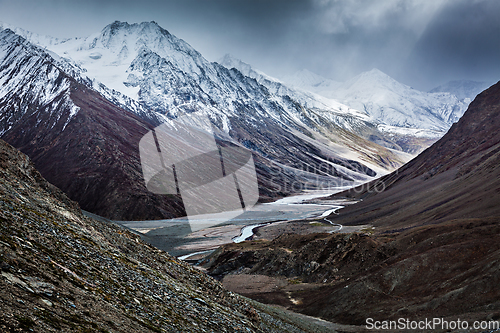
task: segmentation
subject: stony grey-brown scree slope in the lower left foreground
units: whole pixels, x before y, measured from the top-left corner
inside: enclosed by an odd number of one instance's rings
[[[305,332],[117,225],[0,141],[1,332]],[[271,312],[273,313],[273,312]]]

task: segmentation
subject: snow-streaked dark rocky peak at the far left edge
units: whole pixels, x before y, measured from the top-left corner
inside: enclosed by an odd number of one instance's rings
[[[79,107],[70,98],[71,79],[63,66],[9,28],[0,31],[0,64],[0,106],[7,110],[0,113],[0,135],[25,115],[35,117],[36,126],[64,131]]]

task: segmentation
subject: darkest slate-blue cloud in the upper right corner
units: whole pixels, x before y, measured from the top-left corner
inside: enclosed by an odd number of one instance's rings
[[[500,2],[454,1],[429,24],[407,63],[423,87],[455,79],[500,80]]]

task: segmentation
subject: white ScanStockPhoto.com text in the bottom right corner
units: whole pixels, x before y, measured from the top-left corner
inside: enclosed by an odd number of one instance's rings
[[[366,329],[368,330],[499,330],[500,321],[483,320],[469,322],[467,320],[446,320],[444,318],[425,318],[422,320],[411,320],[399,318],[397,320],[375,320],[366,319]]]

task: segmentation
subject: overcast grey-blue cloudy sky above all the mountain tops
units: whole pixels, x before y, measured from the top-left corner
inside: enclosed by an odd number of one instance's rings
[[[156,21],[207,59],[344,81],[378,68],[429,90],[500,80],[498,0],[0,0],[0,21],[54,37]]]

